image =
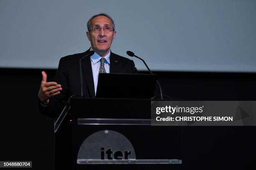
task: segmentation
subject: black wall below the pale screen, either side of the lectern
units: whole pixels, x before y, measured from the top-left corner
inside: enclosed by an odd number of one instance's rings
[[[50,170],[54,169],[54,120],[41,115],[37,108],[41,71],[0,69],[0,160],[32,160],[32,169]],[[56,70],[45,71],[48,81],[53,81]],[[173,99],[256,100],[256,73],[155,73],[164,94]],[[173,168],[256,168],[255,127],[178,128],[182,130],[183,164]]]

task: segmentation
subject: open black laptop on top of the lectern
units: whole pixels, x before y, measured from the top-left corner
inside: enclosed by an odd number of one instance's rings
[[[100,73],[96,97],[151,99],[155,86],[154,74]]]

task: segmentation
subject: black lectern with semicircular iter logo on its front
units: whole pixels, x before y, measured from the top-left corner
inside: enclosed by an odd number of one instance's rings
[[[151,100],[74,97],[54,124],[56,168],[170,169],[181,127],[151,126]]]

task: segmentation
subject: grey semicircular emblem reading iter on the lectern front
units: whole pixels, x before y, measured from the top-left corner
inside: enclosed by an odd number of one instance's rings
[[[82,143],[77,163],[101,163],[118,160],[136,160],[131,142],[121,133],[101,130],[93,133]]]

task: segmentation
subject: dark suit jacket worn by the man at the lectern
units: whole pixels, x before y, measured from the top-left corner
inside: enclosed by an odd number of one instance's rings
[[[47,107],[39,103],[39,110],[43,115],[58,117],[70,96],[81,94],[79,59],[88,52],[68,55],[59,61],[55,81],[61,84],[62,90],[59,95],[52,97]],[[110,53],[110,73],[137,73],[133,60]],[[90,57],[82,59],[83,74],[83,97],[95,97],[92,65]]]

